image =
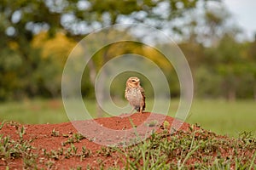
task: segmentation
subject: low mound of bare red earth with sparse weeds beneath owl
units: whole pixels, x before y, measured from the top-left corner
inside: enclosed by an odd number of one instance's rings
[[[0,153],[0,169],[6,169],[6,167],[9,167],[9,169],[35,167],[43,169],[122,168],[127,166],[125,161],[127,157],[120,151],[113,150],[113,147],[110,146],[114,145],[115,148],[120,150],[133,150],[132,145],[125,149],[124,146],[132,142],[136,145],[136,139],[144,139],[145,137],[150,139],[153,131],[156,133],[171,132],[173,129],[170,128],[173,122],[178,123],[170,116],[148,112],[61,124],[20,125],[15,122],[6,122],[0,130],[0,135],[2,135],[2,141],[0,141],[2,145],[0,146],[2,146],[2,152],[5,151],[5,154]],[[73,124],[77,128],[73,127]],[[96,124],[97,126],[95,126]],[[22,127],[25,127],[24,134],[20,134]],[[108,129],[110,129],[110,132]],[[122,132],[125,131],[128,133],[125,133],[124,136]],[[24,149],[28,154],[24,154],[22,151],[19,152],[18,149],[8,152],[6,149],[8,147],[4,148],[4,137],[9,137],[9,145],[14,148],[15,143],[20,144],[19,147],[30,145],[31,147]],[[245,156],[247,159],[253,159],[256,150],[255,140],[247,141],[248,144],[251,144],[247,150],[241,145],[245,144],[243,141],[229,145],[228,143],[234,142],[234,139],[207,132],[200,127],[191,127],[188,123],[183,123],[177,132],[165,133],[160,137],[173,144],[173,147],[176,142],[182,141],[174,141],[173,139],[183,138],[191,139],[188,146],[193,145],[192,140],[200,139],[204,141],[212,139],[212,141],[219,144],[211,145],[210,140],[210,144],[202,144],[201,148],[195,150],[195,153],[191,153],[191,156],[184,161],[190,167],[193,164],[202,163],[204,157],[207,156],[212,157],[208,159],[212,162],[218,158],[229,160],[234,156]],[[11,140],[13,140],[13,143],[10,142]],[[252,147],[252,144],[255,144],[255,147]],[[189,149],[192,150],[189,147],[188,150],[179,149],[179,147],[173,150],[170,149],[170,153],[165,158],[166,164],[180,163],[177,157],[186,156],[186,153],[188,154],[191,151]],[[9,150],[11,149],[9,148]],[[6,154],[9,154],[9,156],[6,156]],[[143,164],[143,161],[139,162]],[[211,165],[212,162],[209,161],[206,164]]]

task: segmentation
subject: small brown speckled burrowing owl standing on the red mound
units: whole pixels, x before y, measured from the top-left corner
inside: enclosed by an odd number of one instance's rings
[[[144,89],[140,85],[140,79],[138,77],[130,77],[126,81],[125,99],[130,102],[133,110],[143,113],[145,110],[145,94]],[[132,111],[133,111],[132,110]]]

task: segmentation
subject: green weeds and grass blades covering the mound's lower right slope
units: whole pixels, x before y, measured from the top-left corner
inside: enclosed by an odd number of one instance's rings
[[[255,138],[248,135],[240,139],[219,138],[194,126],[190,131],[153,133],[140,144],[116,150],[125,156],[125,169],[230,169],[234,165],[236,169],[245,169],[255,166]],[[252,159],[243,155],[244,150],[251,151]]]

